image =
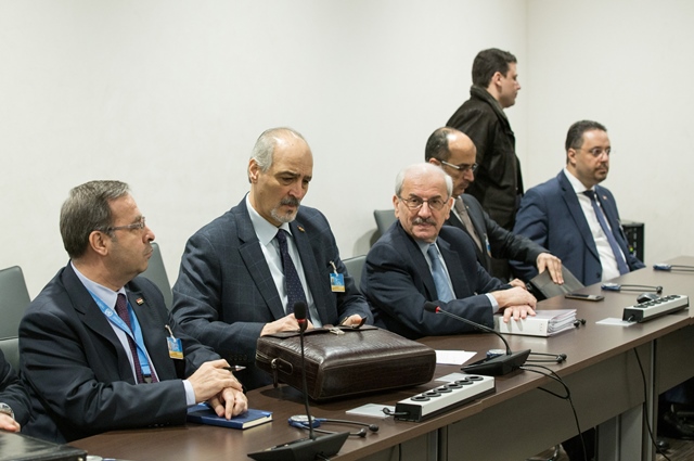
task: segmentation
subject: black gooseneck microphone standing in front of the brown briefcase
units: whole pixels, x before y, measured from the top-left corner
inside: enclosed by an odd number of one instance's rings
[[[308,419],[309,437],[293,440],[286,444],[278,445],[275,447],[268,448],[262,451],[256,451],[255,453],[248,453],[248,457],[257,461],[313,461],[316,459],[327,459],[333,454],[336,454],[347,437],[348,432],[334,433],[330,435],[321,435],[317,437],[313,433],[313,419],[309,411],[308,404],[308,384],[306,383],[306,351],[304,349],[304,331],[308,325],[306,320],[306,303],[297,300],[294,303],[294,317],[299,324],[299,337],[301,344],[301,386],[304,394],[304,408],[306,409],[306,418]]]

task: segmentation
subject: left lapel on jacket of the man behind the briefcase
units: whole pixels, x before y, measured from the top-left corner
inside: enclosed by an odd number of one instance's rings
[[[277,286],[274,286],[274,280],[272,280],[272,274],[265,260],[262,249],[260,249],[260,243],[258,242],[256,231],[248,216],[245,197],[235,208],[234,218],[236,220],[239,240],[241,241],[239,245],[241,258],[246,265],[246,269],[256,284],[258,293],[260,293],[265,299],[273,318],[281,319],[285,316],[284,306],[282,306],[280,294],[278,293]]]

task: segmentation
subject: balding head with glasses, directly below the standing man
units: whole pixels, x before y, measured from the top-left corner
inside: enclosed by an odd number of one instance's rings
[[[477,148],[467,135],[455,128],[435,130],[426,142],[424,158],[441,167],[453,180],[453,196],[465,192],[475,180],[474,166]]]

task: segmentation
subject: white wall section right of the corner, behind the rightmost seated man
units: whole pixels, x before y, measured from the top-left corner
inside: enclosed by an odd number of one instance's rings
[[[564,166],[570,124],[599,120],[613,145],[604,185],[622,219],[645,223],[645,262],[694,254],[694,2],[527,4],[526,185]]]

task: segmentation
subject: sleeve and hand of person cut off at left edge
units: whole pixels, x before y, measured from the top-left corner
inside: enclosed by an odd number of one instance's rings
[[[0,350],[0,431],[20,432],[29,420],[29,397]]]

